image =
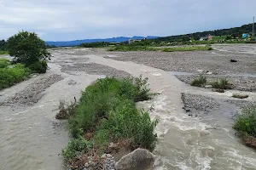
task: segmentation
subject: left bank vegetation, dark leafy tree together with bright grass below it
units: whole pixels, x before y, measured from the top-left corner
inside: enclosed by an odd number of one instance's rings
[[[0,59],[0,90],[24,81],[31,73],[46,72],[47,59],[51,55],[36,33],[20,31],[1,44],[1,48],[8,50],[2,54],[9,54],[14,59]]]

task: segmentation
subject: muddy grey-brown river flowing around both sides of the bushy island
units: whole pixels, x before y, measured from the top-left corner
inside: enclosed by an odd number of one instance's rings
[[[241,144],[232,129],[233,120],[226,113],[236,111],[222,105],[213,116],[191,117],[183,111],[182,93],[230,99],[231,91],[216,94],[206,89],[191,88],[169,71],[131,61],[103,58],[90,49],[58,49],[46,74],[21,82],[0,92],[0,169],[1,170],[62,170],[61,149],[69,141],[65,122],[55,119],[60,99],[79,99],[81,90],[104,75],[148,77],[153,92],[160,93],[139,107],[154,106],[152,118],[159,142],[154,154],[154,169],[221,170],[256,169],[256,152]],[[106,52],[107,53],[107,52]],[[118,56],[113,56],[118,57]],[[87,66],[87,67],[86,67]],[[59,75],[53,82],[38,82]],[[38,82],[38,83],[37,83]],[[44,86],[48,83],[49,86]],[[36,86],[36,87],[35,87]],[[20,102],[20,94],[31,93],[28,103]],[[45,89],[43,89],[45,88]],[[248,101],[255,100],[249,93]],[[15,97],[14,97],[15,96]],[[36,96],[36,97],[34,97]],[[35,99],[35,100],[33,100]],[[15,102],[11,102],[11,101]]]

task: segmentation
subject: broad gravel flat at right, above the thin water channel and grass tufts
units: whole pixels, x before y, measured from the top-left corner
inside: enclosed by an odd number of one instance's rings
[[[119,57],[111,59],[133,61],[164,71],[197,73],[197,70],[204,70],[211,71],[214,74],[236,74],[237,72],[253,74],[256,71],[256,55],[253,54],[236,54],[218,51],[108,53],[119,54]],[[105,58],[108,57],[106,56]],[[231,63],[230,59],[236,59],[237,63]]]

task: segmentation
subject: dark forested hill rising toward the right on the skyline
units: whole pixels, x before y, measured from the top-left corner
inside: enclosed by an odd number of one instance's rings
[[[178,36],[168,36],[168,37],[159,37],[154,39],[155,42],[177,42],[179,40],[188,41],[191,38],[195,40],[199,40],[201,37],[205,37],[209,34],[212,36],[224,36],[231,35],[232,37],[241,37],[242,33],[252,32],[253,24],[248,24],[240,27],[234,27],[229,29],[221,29],[214,31],[202,31],[195,32],[191,34],[178,35]]]

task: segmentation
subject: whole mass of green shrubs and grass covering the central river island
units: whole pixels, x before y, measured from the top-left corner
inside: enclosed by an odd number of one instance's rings
[[[121,148],[154,150],[157,135],[148,111],[138,110],[136,102],[151,99],[148,80],[107,77],[91,84],[76,105],[62,106],[59,114],[68,119],[73,139],[62,150],[67,166],[84,169],[84,163],[102,165],[103,153],[115,154]],[[66,116],[63,113],[67,114]],[[109,149],[109,145],[116,145]],[[93,156],[92,156],[93,155]],[[95,167],[96,168],[96,167]]]

